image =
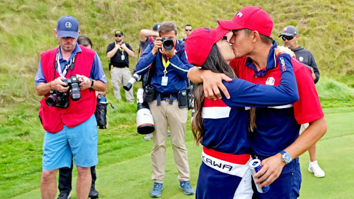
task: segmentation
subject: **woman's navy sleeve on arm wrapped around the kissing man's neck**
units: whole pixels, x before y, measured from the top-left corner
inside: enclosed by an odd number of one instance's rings
[[[291,57],[282,54],[278,61],[281,70],[280,85],[258,85],[241,79],[224,82],[230,93],[230,99],[226,99],[222,93],[225,104],[230,107],[268,107],[296,102],[299,96]]]

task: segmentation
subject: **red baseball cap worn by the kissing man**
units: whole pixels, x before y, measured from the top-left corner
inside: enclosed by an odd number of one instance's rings
[[[218,20],[220,26],[225,29],[257,30],[260,34],[270,36],[273,29],[273,21],[270,15],[261,7],[247,6],[238,11],[233,20]]]

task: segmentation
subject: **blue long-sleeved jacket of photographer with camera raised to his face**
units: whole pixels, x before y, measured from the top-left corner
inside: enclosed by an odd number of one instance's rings
[[[156,60],[155,62],[155,72],[151,79],[151,85],[156,88],[156,91],[159,93],[177,93],[180,90],[187,88],[187,73],[188,69],[193,67],[190,63],[187,62],[187,57],[184,51],[184,43],[177,40],[176,45],[176,55],[169,59],[170,65],[167,67],[168,83],[166,86],[162,85],[162,77],[164,77],[164,66],[162,63],[162,54],[160,52],[156,53],[156,55],[152,55],[151,50],[153,48],[154,43],[150,43],[148,47],[145,49],[143,55],[140,57],[139,62],[136,65],[136,72],[139,75],[144,75],[148,72],[150,64]]]

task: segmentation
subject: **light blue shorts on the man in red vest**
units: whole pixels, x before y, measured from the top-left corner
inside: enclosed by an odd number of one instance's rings
[[[97,121],[94,114],[85,122],[63,129],[57,133],[44,132],[43,140],[43,170],[55,170],[74,163],[79,167],[97,165]]]

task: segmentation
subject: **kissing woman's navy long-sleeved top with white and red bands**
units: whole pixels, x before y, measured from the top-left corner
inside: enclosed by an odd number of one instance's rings
[[[284,61],[284,67],[277,68],[282,70],[280,85],[256,85],[233,79],[224,82],[230,99],[223,95],[222,100],[204,100],[204,146],[224,153],[249,154],[249,107],[279,106],[298,100],[291,57],[283,54],[278,59]]]

